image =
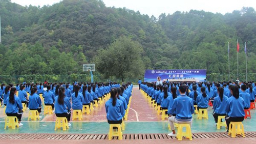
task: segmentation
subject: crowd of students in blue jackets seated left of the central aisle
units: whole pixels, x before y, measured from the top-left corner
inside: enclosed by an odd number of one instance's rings
[[[16,96],[17,89],[13,87],[13,84],[2,84],[0,88],[0,101],[6,106],[7,116],[16,116],[18,118],[19,126],[23,124],[20,123],[23,114],[23,105],[25,103],[30,110],[37,110],[41,112],[42,103],[45,105],[51,105],[56,117],[66,117],[68,120],[68,125],[70,124],[71,108],[82,110],[83,105],[91,106],[93,100],[101,99],[110,93],[111,89],[115,91],[115,95],[112,94],[112,99],[120,101],[120,105],[124,109],[127,109],[127,104],[129,104],[129,99],[132,96],[133,84],[127,82],[122,84],[120,87],[119,83],[24,83],[16,84],[18,91],[18,96]],[[28,97],[29,93],[29,97]],[[44,102],[41,101],[39,95],[44,97]],[[14,103],[13,103],[14,102]],[[72,104],[71,104],[72,103]],[[107,104],[105,106],[108,106]],[[114,106],[114,105],[112,105]],[[122,118],[124,117],[122,111]],[[117,119],[112,119],[116,117],[112,116],[112,110],[107,111],[107,115],[110,121],[115,121]],[[40,117],[41,118],[41,117]],[[118,119],[119,121],[119,119]]]

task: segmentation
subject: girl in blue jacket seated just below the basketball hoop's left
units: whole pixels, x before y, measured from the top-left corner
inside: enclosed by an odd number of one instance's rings
[[[66,91],[67,89],[65,89]],[[82,104],[83,104],[83,95],[79,93],[80,86],[76,85],[75,87],[75,93],[72,94],[72,109],[81,109],[82,110]]]

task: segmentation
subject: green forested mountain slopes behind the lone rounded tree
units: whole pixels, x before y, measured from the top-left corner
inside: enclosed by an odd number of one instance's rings
[[[231,73],[237,72],[238,39],[240,72],[245,73],[245,42],[248,73],[256,69],[253,8],[225,15],[177,11],[156,18],[97,0],[63,0],[41,8],[0,0],[0,14],[1,75],[82,73],[82,64],[95,63],[94,57],[119,38],[141,45],[145,67],[140,68],[207,69],[208,74],[228,73],[228,42]]]

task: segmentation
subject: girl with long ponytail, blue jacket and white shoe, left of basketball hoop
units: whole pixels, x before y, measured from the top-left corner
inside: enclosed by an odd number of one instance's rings
[[[68,120],[68,126],[70,127],[70,117],[71,117],[71,103],[68,97],[65,96],[65,88],[59,87],[59,95],[55,97],[55,114],[56,117],[66,117]]]

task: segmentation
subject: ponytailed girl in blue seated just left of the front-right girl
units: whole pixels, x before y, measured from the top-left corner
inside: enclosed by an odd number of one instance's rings
[[[216,126],[218,122],[218,116],[226,116],[226,101],[228,99],[228,97],[223,94],[224,90],[222,87],[219,87],[217,91],[219,96],[214,99],[214,112],[212,113]]]

